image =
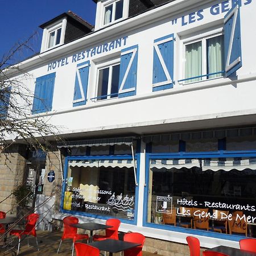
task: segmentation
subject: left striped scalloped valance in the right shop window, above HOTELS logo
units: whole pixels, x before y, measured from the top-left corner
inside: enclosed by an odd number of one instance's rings
[[[166,169],[171,169],[171,168],[192,168],[192,167],[199,167],[200,168],[200,162],[199,159],[172,159],[172,160],[164,160],[164,159],[159,159],[159,160],[150,160],[150,168],[166,168]]]

